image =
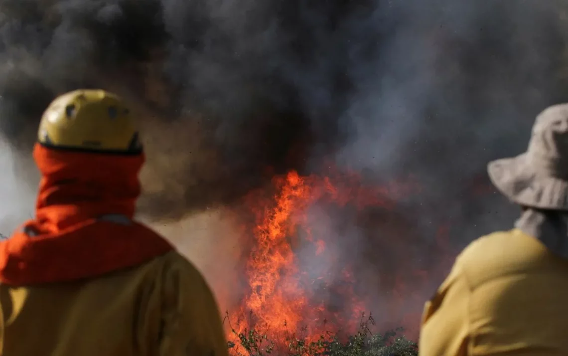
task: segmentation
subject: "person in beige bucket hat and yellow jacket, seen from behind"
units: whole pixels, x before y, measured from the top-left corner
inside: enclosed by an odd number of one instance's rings
[[[521,216],[457,257],[425,304],[420,355],[568,355],[568,104],[542,111],[528,150],[487,171]]]

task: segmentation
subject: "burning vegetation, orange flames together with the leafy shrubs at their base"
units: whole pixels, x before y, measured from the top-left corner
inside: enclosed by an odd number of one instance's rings
[[[245,293],[225,318],[233,354],[307,356],[334,347],[371,347],[366,343],[374,323],[367,311],[372,300],[357,281],[356,266],[337,246],[328,249],[337,245],[338,233],[326,231],[329,226],[314,221],[310,210],[332,208],[338,216],[357,219],[369,209],[394,209],[397,197],[418,190],[412,181],[372,187],[354,173],[330,169],[327,176],[290,171],[274,177],[269,189],[248,194],[244,206],[250,216],[243,226],[249,246]],[[383,238],[396,238],[392,232],[385,231]],[[352,239],[347,244],[358,243],[352,234],[341,238]],[[370,340],[374,347],[381,342],[387,347],[394,335]],[[396,340],[396,347],[415,350],[412,342]]]

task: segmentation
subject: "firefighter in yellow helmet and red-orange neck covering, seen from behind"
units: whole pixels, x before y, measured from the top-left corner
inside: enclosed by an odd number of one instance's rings
[[[0,355],[227,356],[203,276],[133,220],[144,153],[123,101],[56,98],[34,159],[35,218],[0,242]]]

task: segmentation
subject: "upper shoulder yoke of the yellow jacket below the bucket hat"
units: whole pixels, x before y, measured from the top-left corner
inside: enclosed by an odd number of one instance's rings
[[[540,241],[518,229],[478,238],[456,259],[472,289],[496,278],[544,272],[557,263]]]

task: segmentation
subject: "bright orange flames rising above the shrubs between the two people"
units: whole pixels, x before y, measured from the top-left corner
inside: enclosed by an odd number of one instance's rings
[[[246,265],[249,292],[232,314],[229,340],[235,340],[235,332],[246,335],[259,328],[269,340],[281,343],[294,337],[317,341],[341,330],[353,333],[365,312],[364,301],[354,291],[353,271],[340,266],[339,276],[314,276],[300,268],[296,249],[302,246],[311,259],[336,263],[326,237],[310,224],[308,210],[316,203],[358,209],[389,206],[386,197],[392,189],[362,187],[356,175],[304,177],[295,171],[275,177],[274,189],[268,198],[253,193],[247,199],[254,216],[253,227],[247,229],[253,245]],[[328,297],[320,296],[322,290]],[[329,305],[329,295],[340,295],[342,305]]]

